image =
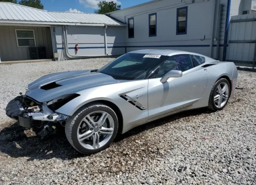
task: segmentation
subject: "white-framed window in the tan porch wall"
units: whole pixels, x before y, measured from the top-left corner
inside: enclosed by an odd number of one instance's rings
[[[18,47],[35,46],[34,30],[15,30]]]

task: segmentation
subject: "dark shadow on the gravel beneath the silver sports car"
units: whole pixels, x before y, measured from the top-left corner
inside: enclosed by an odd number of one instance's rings
[[[189,122],[190,116],[195,116],[203,113],[211,113],[207,109],[196,109],[182,113],[178,113],[166,118],[162,118],[151,123],[133,128],[125,134],[117,135],[114,143],[120,142],[125,138],[147,131],[166,123],[169,123],[180,118],[187,118]],[[114,144],[115,145],[115,144]],[[65,131],[59,130],[56,135],[49,136],[45,139],[40,139],[34,135],[34,132],[18,126],[17,123],[11,124],[0,131],[0,157],[11,156],[28,157],[31,160],[47,160],[50,158],[58,158],[67,160],[76,157],[83,157],[69,144],[66,139]]]

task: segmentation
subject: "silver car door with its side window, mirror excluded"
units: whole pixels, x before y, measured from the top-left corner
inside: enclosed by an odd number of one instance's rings
[[[161,77],[173,69],[182,71],[182,77],[160,82]],[[206,84],[206,72],[202,67],[194,67],[189,54],[171,56],[148,81],[148,120],[195,104]]]

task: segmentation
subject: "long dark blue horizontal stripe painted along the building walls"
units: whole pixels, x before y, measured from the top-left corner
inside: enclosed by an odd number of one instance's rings
[[[155,46],[108,46],[108,48],[131,48],[131,47],[210,47],[210,45],[155,45]],[[105,48],[105,46],[95,47],[78,47],[78,49],[99,49]],[[58,47],[58,50],[62,50],[62,47]],[[74,47],[68,47],[68,49],[75,49]]]

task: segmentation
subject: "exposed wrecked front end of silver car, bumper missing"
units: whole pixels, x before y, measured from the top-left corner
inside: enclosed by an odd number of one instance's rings
[[[39,103],[26,95],[17,96],[6,106],[6,115],[18,121],[25,128],[37,128],[43,136],[49,132],[48,128],[56,128],[56,124],[65,121],[68,116],[54,112],[48,108],[47,102]],[[39,134],[41,135],[41,134]]]

